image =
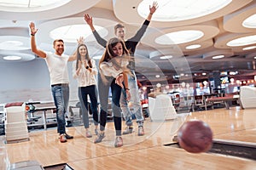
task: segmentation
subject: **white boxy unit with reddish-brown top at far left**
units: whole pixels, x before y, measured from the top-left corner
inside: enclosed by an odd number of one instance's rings
[[[29,140],[26,124],[26,103],[6,104],[3,113],[6,143]]]

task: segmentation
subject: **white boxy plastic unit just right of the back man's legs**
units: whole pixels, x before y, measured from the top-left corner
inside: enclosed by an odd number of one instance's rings
[[[159,94],[155,98],[148,97],[148,109],[152,122],[166,121],[177,117],[172,99],[168,94]]]

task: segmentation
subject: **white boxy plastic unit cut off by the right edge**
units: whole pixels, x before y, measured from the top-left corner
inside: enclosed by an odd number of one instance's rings
[[[242,86],[240,88],[240,105],[242,109],[256,108],[256,88]]]

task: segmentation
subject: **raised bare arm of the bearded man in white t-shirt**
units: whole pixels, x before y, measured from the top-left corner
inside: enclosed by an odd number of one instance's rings
[[[30,31],[31,31],[31,49],[32,49],[32,52],[34,54],[37,54],[41,58],[45,58],[46,54],[44,53],[44,51],[37,48],[37,44],[36,44],[36,40],[35,40],[35,36],[36,36],[36,33],[38,32],[38,29],[36,29],[35,24],[33,22],[31,22],[29,24],[29,27],[30,27]]]

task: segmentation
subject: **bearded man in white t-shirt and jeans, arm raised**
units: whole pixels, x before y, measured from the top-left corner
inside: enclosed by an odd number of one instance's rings
[[[29,25],[31,30],[31,48],[34,54],[44,58],[49,69],[51,92],[56,107],[57,117],[57,131],[60,133],[60,142],[67,142],[67,139],[73,139],[66,133],[65,112],[67,111],[67,105],[69,100],[69,78],[67,72],[67,61],[73,61],[76,59],[76,55],[68,56],[63,54],[64,42],[61,39],[57,39],[53,42],[55,53],[44,52],[37,48],[35,41],[35,34],[38,29],[35,28],[33,22]]]

